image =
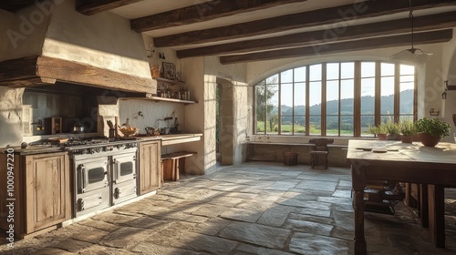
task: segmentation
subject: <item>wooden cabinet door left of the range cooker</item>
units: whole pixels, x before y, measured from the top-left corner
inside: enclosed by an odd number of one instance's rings
[[[26,156],[26,232],[70,219],[67,153]]]

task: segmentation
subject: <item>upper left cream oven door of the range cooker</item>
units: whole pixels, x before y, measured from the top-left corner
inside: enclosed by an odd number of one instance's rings
[[[108,163],[107,157],[87,158],[76,162],[78,194],[108,187]]]

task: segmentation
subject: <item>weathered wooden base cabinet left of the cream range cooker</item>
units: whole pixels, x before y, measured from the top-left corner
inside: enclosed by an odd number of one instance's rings
[[[2,155],[2,159],[6,155]],[[4,160],[0,160],[5,165]],[[7,176],[7,168],[0,167],[1,179]],[[56,227],[71,219],[70,172],[67,152],[30,156],[15,156],[14,225],[16,237],[38,230]],[[3,185],[2,185],[3,186]],[[5,188],[4,188],[5,189]],[[6,190],[0,190],[0,200]],[[10,214],[2,205],[0,227],[5,229],[5,216]],[[9,225],[8,225],[9,226]]]

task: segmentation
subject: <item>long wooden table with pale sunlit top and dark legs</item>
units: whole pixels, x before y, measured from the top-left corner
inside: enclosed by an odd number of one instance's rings
[[[456,144],[440,142],[429,148],[421,143],[351,139],[347,160],[351,163],[354,190],[355,254],[367,253],[364,189],[371,180],[427,185],[430,237],[437,247],[445,247],[444,187],[456,184]]]

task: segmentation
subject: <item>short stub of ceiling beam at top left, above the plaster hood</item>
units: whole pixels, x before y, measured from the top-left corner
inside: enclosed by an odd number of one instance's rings
[[[77,0],[76,10],[83,15],[96,15],[141,0]]]

